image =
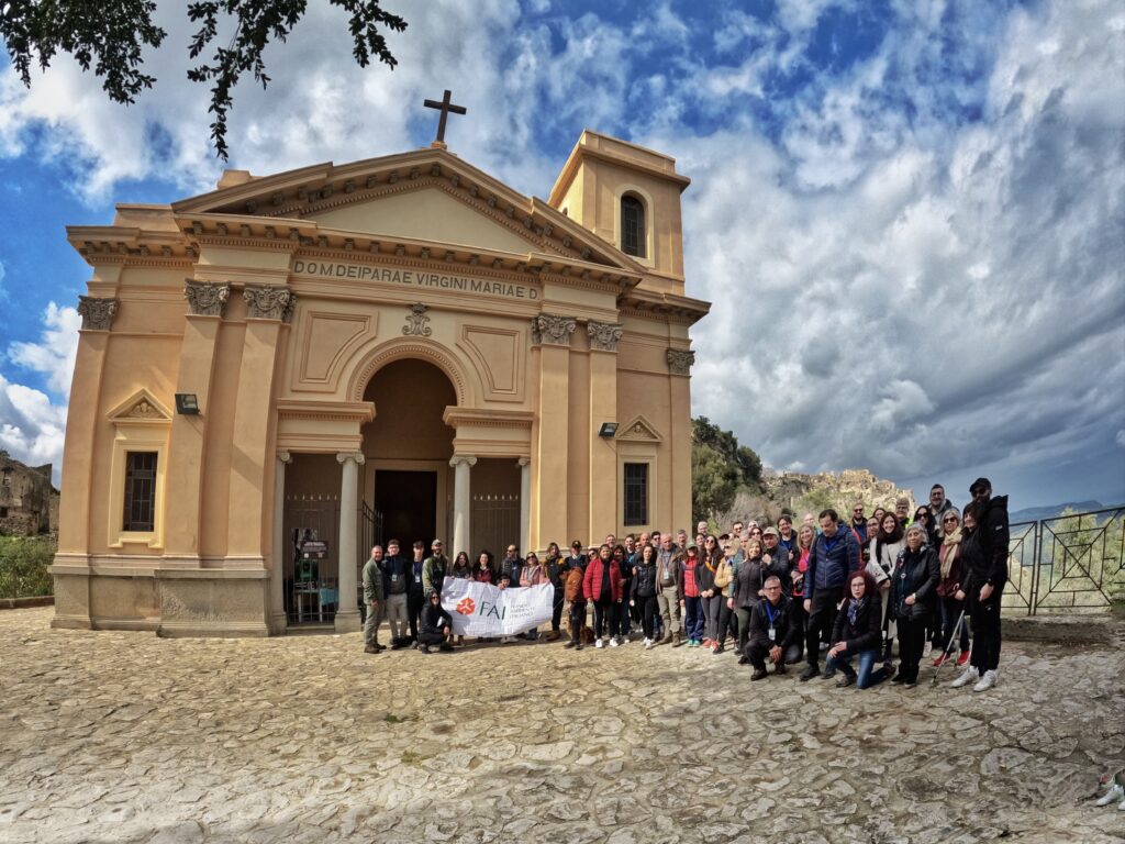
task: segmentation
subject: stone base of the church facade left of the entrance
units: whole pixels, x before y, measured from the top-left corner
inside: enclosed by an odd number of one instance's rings
[[[56,562],[52,574],[53,628],[148,630],[162,637],[270,635],[269,572],[263,569],[165,571]]]

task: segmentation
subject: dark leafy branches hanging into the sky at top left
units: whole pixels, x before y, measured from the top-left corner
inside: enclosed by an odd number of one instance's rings
[[[351,16],[348,30],[352,56],[366,68],[372,54],[389,68],[397,64],[387,47],[381,28],[406,29],[406,21],[384,11],[381,0],[330,0]],[[271,41],[285,42],[305,16],[307,0],[194,0],[188,3],[188,19],[199,24],[191,38],[189,56],[198,59],[219,37],[220,24],[233,28],[234,36],[218,42],[208,62],[188,71],[194,82],[212,82],[209,111],[215,152],[227,159],[226,120],[233,99],[231,91],[244,73],[266,88],[262,52]],[[83,71],[93,68],[104,78],[102,88],[114,102],[134,102],[155,77],[142,72],[145,48],[159,47],[168,36],[152,16],[153,0],[115,0],[89,3],[80,0],[7,0],[0,3],[0,38],[11,56],[12,66],[24,84],[30,87],[30,68],[38,61],[46,70],[55,54],[70,53]],[[222,16],[222,18],[220,18]]]

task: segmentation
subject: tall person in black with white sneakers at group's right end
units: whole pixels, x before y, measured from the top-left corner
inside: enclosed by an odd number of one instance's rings
[[[976,681],[973,691],[982,692],[996,685],[1000,666],[1000,601],[1008,582],[1008,496],[992,497],[992,483],[976,478],[969,487],[973,501],[965,512],[976,520],[970,538],[979,544],[976,553],[966,553],[965,582],[957,599],[965,600],[965,614],[973,620],[973,650],[965,673],[954,685]]]

